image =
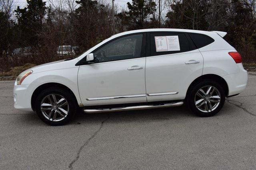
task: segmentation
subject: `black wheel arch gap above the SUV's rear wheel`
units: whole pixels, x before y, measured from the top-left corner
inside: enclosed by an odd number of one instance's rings
[[[196,78],[188,87],[187,93],[186,93],[186,97],[188,96],[188,93],[190,92],[190,90],[192,89],[192,87],[194,86],[194,84],[202,81],[202,80],[206,80],[206,79],[210,79],[210,80],[214,80],[218,83],[220,83],[220,85],[224,88],[225,94],[226,96],[228,96],[228,84],[226,82],[226,80],[224,80],[224,78],[222,78],[221,76],[218,76],[216,74],[204,74],[198,78]]]

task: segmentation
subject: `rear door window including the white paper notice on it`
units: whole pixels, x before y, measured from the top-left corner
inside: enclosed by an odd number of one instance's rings
[[[196,49],[186,33],[150,33],[150,56],[182,53]]]

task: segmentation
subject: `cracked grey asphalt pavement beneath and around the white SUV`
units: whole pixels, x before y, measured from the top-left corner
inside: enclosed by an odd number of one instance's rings
[[[214,117],[186,106],[78,113],[65,126],[13,107],[0,82],[0,169],[256,169],[256,72]]]

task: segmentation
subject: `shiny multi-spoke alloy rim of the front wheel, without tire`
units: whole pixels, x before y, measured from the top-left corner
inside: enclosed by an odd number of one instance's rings
[[[61,121],[68,115],[68,101],[59,94],[49,94],[41,102],[41,112],[50,121]]]

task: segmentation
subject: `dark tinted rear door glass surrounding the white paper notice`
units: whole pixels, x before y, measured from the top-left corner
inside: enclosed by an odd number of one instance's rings
[[[168,36],[178,36],[178,41],[179,41],[179,47],[180,50],[175,50],[175,51],[156,51],[156,37],[168,37]],[[168,41],[168,40],[167,40]],[[190,40],[191,41],[191,40]],[[181,53],[185,51],[190,51],[192,49],[195,49],[193,47],[194,45],[192,42],[190,43],[188,38],[186,37],[185,33],[150,33],[150,55],[165,55],[165,54],[173,54],[173,53]],[[169,50],[169,49],[168,49]]]

